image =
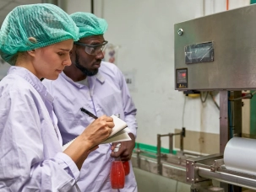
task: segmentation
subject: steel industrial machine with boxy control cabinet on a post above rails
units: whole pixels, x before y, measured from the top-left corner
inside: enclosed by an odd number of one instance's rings
[[[226,143],[242,136],[242,90],[256,89],[255,17],[251,5],[174,25],[175,88],[220,91],[220,154],[186,159],[191,191],[213,191],[205,187],[210,179],[221,182],[215,191],[256,189],[256,173],[229,170],[223,161]]]

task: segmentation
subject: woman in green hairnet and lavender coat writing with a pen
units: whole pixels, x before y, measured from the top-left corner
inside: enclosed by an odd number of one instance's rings
[[[112,118],[101,116],[62,152],[40,79],[71,64],[78,32],[67,13],[45,3],[14,8],[3,22],[0,55],[14,67],[0,82],[0,191],[79,191],[79,168],[112,131]]]

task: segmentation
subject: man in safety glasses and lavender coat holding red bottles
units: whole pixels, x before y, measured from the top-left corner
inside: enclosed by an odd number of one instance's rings
[[[131,141],[121,142],[118,152],[112,152],[117,143],[102,144],[91,152],[85,160],[79,179],[81,191],[118,191],[110,184],[110,170],[114,157],[122,161],[131,158],[135,145],[137,122],[136,109],[128,91],[122,72],[112,63],[101,61],[107,41],[104,33],[107,24],[104,19],[91,13],[70,15],[79,27],[79,41],[74,42],[71,54],[72,65],[66,67],[56,81],[43,83],[54,96],[54,111],[63,136],[63,144],[73,140],[94,119],[84,115],[80,108],[89,110],[96,116],[120,114],[130,129]],[[125,178],[124,189],[137,191],[137,184],[130,163],[130,173]]]

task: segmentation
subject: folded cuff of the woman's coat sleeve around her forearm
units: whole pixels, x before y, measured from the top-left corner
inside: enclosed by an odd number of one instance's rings
[[[79,180],[79,176],[80,176],[79,168],[76,166],[76,164],[74,163],[72,158],[69,157],[68,155],[66,155],[63,152],[58,152],[55,157],[58,158],[58,159],[63,160],[63,162],[67,165],[65,167],[69,168],[69,170],[73,174],[72,176],[74,177],[74,179],[76,181],[78,181]]]

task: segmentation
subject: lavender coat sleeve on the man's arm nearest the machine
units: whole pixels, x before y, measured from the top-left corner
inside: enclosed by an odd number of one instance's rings
[[[124,120],[128,124],[130,132],[133,133],[133,135],[136,138],[138,129],[136,120],[137,109],[135,108],[133,99],[131,97],[131,94],[129,93],[128,85],[125,81],[123,73],[119,69],[117,72],[122,92]]]

